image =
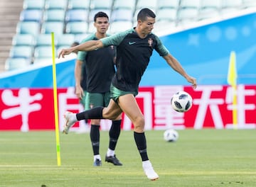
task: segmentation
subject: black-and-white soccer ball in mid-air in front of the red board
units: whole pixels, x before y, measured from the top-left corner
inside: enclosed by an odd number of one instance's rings
[[[178,91],[171,97],[171,106],[174,111],[184,113],[191,109],[192,97],[186,91]]]

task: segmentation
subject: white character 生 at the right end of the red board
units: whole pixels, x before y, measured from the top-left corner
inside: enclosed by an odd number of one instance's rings
[[[245,96],[255,96],[256,91],[254,89],[245,89],[244,85],[238,85],[237,87],[237,110],[238,110],[238,129],[254,129],[256,128],[255,123],[246,123],[245,121],[245,111],[254,111],[255,104],[245,103]],[[226,98],[226,103],[228,103],[228,111],[233,110],[233,88],[228,87]],[[226,128],[234,128],[233,123],[227,124]]]

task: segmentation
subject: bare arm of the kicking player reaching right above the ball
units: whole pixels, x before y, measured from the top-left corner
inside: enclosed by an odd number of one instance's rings
[[[178,60],[176,60],[175,57],[173,57],[170,53],[166,56],[164,56],[164,60],[166,60],[166,62],[169,64],[169,66],[174,69],[176,72],[178,72],[179,74],[181,74],[183,77],[185,77],[185,79],[190,82],[193,86],[194,89],[196,89],[196,79],[189,76],[186,71],[183,69],[183,67],[181,66],[181,64],[178,62]]]

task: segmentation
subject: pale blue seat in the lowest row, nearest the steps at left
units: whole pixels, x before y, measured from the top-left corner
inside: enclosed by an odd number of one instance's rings
[[[11,71],[14,69],[22,69],[27,68],[31,62],[25,58],[8,58],[6,59],[4,68],[7,71]]]

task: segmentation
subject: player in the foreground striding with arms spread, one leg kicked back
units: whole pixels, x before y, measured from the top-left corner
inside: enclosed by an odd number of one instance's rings
[[[121,33],[114,34],[97,41],[90,40],[76,47],[63,49],[59,57],[64,57],[74,51],[97,50],[110,45],[117,46],[117,72],[114,74],[110,88],[111,100],[107,108],[97,107],[82,113],[65,113],[65,128],[70,128],[76,121],[87,118],[115,119],[124,112],[134,124],[134,140],[142,158],[142,168],[147,178],[154,181],[159,179],[149,161],[146,151],[144,133],[144,115],[140,110],[135,96],[138,94],[139,82],[149,64],[153,50],[166,60],[172,69],[181,74],[193,88],[196,79],[190,77],[181,64],[169,53],[161,40],[151,33],[154,28],[156,15],[149,8],[142,8],[137,15],[137,26]]]

